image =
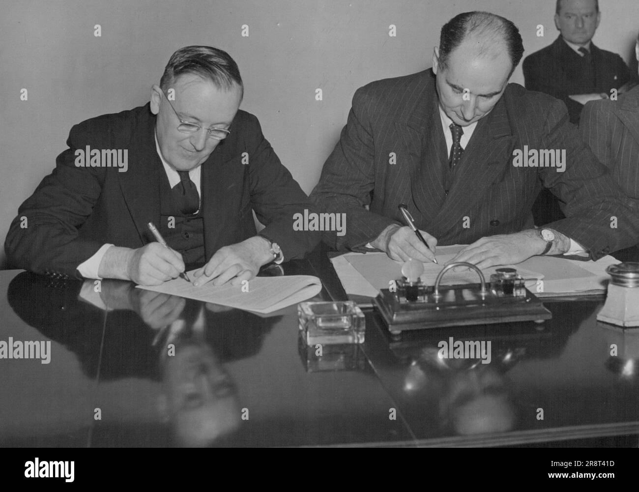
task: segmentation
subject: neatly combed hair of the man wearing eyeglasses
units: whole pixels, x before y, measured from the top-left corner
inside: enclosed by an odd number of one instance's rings
[[[235,60],[226,51],[212,46],[187,46],[174,52],[164,68],[160,88],[166,92],[176,77],[186,73],[199,75],[219,89],[230,89],[235,83],[243,91],[240,69]]]

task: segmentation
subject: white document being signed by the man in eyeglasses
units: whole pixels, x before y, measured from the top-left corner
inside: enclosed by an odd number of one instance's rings
[[[188,272],[190,279],[194,279],[195,271]],[[318,295],[321,281],[312,275],[284,275],[255,277],[244,288],[230,284],[214,286],[213,282],[196,287],[178,277],[162,285],[137,288],[266,314]]]

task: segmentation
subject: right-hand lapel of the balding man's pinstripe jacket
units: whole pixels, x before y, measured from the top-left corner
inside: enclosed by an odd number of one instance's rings
[[[470,142],[457,164],[455,177],[440,212],[436,230],[443,236],[452,227],[459,226],[465,215],[473,216],[477,202],[486,196],[486,190],[507,171],[512,157],[514,137],[504,96],[490,114],[479,120]],[[476,214],[475,214],[476,215]]]

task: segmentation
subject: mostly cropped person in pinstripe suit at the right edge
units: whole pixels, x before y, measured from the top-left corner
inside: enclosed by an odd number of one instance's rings
[[[639,36],[635,54],[639,60]],[[587,103],[581,111],[580,130],[627,196],[639,199],[639,86],[617,100]],[[639,249],[629,248],[615,256],[639,261]]]

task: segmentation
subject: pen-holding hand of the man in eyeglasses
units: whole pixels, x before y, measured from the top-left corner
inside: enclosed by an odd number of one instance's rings
[[[180,253],[160,243],[149,243],[138,249],[111,246],[100,261],[98,275],[140,285],[159,285],[183,271]]]

